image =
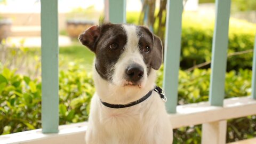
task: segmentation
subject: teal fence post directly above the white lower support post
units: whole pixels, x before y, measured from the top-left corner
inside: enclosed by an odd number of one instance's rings
[[[230,0],[215,1],[217,9],[212,42],[210,103],[222,106],[225,97]]]

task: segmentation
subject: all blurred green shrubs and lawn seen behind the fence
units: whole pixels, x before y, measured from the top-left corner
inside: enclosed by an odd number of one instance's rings
[[[161,2],[164,5],[166,1]],[[202,4],[212,2],[199,0]],[[255,6],[254,0],[233,0],[231,13],[255,12]],[[86,12],[92,11],[93,7],[75,9],[69,15],[86,15]],[[156,7],[153,21],[145,21],[143,13],[145,11],[127,12],[127,23],[153,26],[154,33],[164,42],[166,12]],[[159,19],[159,13],[162,19]],[[214,15],[183,11],[178,105],[207,101],[209,98],[213,30]],[[255,23],[230,19],[225,98],[251,94],[255,33]],[[62,29],[60,34],[67,36],[68,31]],[[40,47],[27,47],[22,41],[19,46],[10,45],[7,38],[0,44],[0,55],[0,134],[41,128]],[[93,58],[94,54],[77,39],[72,39],[68,46],[60,46],[60,124],[87,120],[95,91],[91,74]],[[205,65],[199,67],[202,63]],[[158,71],[157,84],[161,86],[162,81],[163,66]],[[227,142],[253,137],[256,137],[255,115],[228,120]],[[174,130],[174,143],[200,142],[201,125]]]

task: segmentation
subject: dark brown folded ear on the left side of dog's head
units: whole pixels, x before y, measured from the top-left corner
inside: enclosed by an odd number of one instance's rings
[[[100,27],[97,25],[91,26],[86,29],[82,34],[79,35],[79,41],[87,46],[92,52],[96,52],[95,42],[97,38],[100,36]]]

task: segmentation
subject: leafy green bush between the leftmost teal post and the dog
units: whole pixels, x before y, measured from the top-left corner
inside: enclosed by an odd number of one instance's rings
[[[95,91],[91,74],[75,63],[70,63],[68,70],[60,71],[59,85],[60,124],[87,120]]]

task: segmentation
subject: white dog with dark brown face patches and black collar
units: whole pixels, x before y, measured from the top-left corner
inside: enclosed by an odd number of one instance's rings
[[[105,23],[78,37],[95,53],[96,92],[86,130],[87,144],[172,143],[165,97],[156,87],[162,41],[144,26]]]

